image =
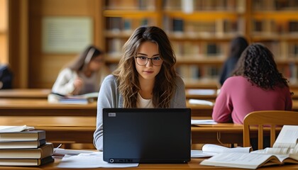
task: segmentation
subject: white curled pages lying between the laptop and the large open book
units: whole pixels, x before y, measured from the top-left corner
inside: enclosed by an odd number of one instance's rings
[[[191,157],[212,157],[216,154],[227,152],[241,152],[249,153],[251,147],[223,147],[220,145],[206,144],[202,147],[202,150],[192,150]]]

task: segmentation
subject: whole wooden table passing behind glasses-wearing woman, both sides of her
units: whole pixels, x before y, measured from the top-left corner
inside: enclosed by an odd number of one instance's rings
[[[214,100],[209,100],[213,101]],[[211,117],[213,106],[190,104],[192,117]],[[0,115],[93,115],[96,102],[87,105],[48,103],[46,99],[0,98]],[[293,111],[298,111],[298,100],[293,101]]]

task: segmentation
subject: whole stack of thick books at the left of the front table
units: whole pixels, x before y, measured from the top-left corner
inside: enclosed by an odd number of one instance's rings
[[[54,162],[45,130],[0,131],[0,166],[40,166]]]

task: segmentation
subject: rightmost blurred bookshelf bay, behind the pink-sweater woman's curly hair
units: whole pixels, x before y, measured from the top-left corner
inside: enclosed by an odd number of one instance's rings
[[[275,55],[277,66],[297,84],[298,1],[252,1],[250,42],[262,42]]]

